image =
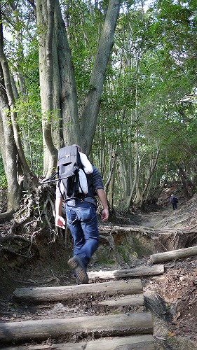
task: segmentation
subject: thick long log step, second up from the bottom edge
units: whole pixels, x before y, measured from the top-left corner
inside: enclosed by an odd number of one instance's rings
[[[81,338],[153,334],[153,319],[151,314],[141,313],[1,323],[0,344],[76,334]]]

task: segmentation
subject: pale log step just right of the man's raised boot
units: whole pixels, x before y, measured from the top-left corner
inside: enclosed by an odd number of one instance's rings
[[[89,279],[118,279],[131,276],[152,276],[163,274],[163,265],[134,267],[133,269],[115,269],[113,271],[88,272]]]

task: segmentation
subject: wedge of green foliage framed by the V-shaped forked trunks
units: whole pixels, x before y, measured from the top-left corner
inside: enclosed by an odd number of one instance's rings
[[[79,97],[79,111],[89,90],[90,73],[93,68],[95,52],[100,39],[104,15],[101,3],[74,0],[63,1],[67,35],[72,50],[76,86]]]

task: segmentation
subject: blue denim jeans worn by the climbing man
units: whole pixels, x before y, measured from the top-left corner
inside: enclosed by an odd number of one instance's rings
[[[91,256],[99,246],[96,208],[87,202],[66,204],[67,225],[74,239],[74,256],[78,255],[87,268]]]

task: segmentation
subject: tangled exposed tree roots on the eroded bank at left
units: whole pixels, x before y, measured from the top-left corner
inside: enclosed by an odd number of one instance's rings
[[[20,209],[9,216],[13,220],[6,236],[1,233],[1,253],[18,255],[22,258],[33,258],[37,240],[46,240],[46,244],[54,242],[58,232],[55,230],[55,188],[39,186],[30,195],[26,195]],[[0,218],[8,218],[8,213],[0,214]],[[52,229],[54,227],[54,230]],[[41,238],[43,237],[43,238]],[[17,242],[17,244],[15,244]],[[24,253],[25,242],[25,253]]]

